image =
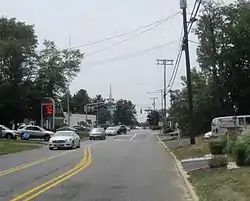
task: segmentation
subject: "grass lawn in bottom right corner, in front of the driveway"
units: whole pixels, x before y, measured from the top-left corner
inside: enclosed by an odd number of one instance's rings
[[[189,180],[202,201],[250,200],[250,168],[226,170],[198,170],[190,173]]]

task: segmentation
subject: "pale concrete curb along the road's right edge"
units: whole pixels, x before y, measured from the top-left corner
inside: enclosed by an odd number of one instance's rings
[[[194,190],[194,187],[192,186],[192,184],[188,181],[188,175],[186,173],[186,171],[183,169],[181,162],[176,158],[176,156],[173,154],[172,151],[170,151],[170,149],[166,146],[166,144],[159,138],[158,135],[156,135],[158,141],[162,144],[162,146],[170,153],[170,155],[174,158],[176,166],[177,166],[177,170],[179,172],[179,174],[181,175],[182,179],[184,180],[184,183],[192,197],[193,201],[199,201],[199,198]]]

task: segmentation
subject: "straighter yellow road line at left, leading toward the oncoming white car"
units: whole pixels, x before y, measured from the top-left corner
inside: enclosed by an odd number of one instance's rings
[[[28,168],[28,167],[31,167],[33,165],[37,165],[37,164],[49,161],[51,159],[57,158],[59,156],[63,156],[65,154],[71,153],[73,151],[76,151],[76,150],[70,150],[70,151],[67,151],[67,152],[62,152],[62,153],[57,154],[55,156],[50,156],[50,157],[47,157],[47,158],[42,158],[42,159],[37,160],[37,161],[31,161],[31,162],[28,162],[28,163],[25,163],[25,164],[22,164],[22,165],[18,165],[16,167],[13,167],[13,168],[10,168],[10,169],[7,169],[7,170],[3,170],[3,171],[0,172],[0,177],[2,177],[4,175],[7,175],[7,174],[10,174],[10,173],[13,173],[13,172],[16,172],[16,171],[19,171],[19,170],[22,170],[22,169],[25,169],[25,168]]]

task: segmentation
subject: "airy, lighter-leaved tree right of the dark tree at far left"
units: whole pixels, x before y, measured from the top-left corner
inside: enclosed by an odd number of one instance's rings
[[[43,44],[45,48],[38,55],[37,87],[49,97],[61,95],[79,73],[83,54],[79,50],[59,50],[52,41]]]

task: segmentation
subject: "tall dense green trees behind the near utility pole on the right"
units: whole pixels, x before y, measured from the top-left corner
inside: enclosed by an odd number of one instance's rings
[[[250,100],[250,2],[238,0],[230,5],[202,1],[194,33],[198,37],[199,70],[192,69],[194,119],[193,132],[210,130],[216,116],[249,114]],[[188,101],[186,78],[183,88],[173,91],[169,117],[187,134]]]

